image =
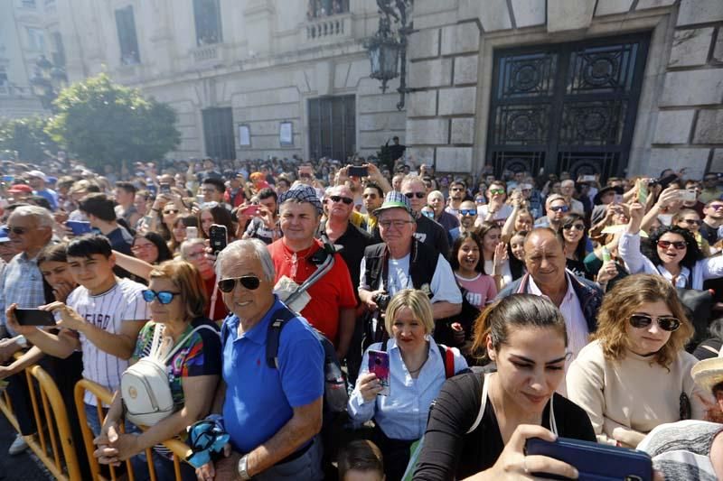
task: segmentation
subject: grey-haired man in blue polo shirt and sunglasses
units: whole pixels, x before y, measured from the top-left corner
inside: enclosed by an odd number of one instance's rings
[[[222,413],[230,456],[199,479],[317,480],[321,471],[324,349],[306,319],[281,331],[278,368],[266,360],[268,326],[286,305],[274,295],[274,263],[258,239],[240,240],[216,261],[223,301],[223,382],[211,412]],[[228,449],[226,450],[228,452]]]

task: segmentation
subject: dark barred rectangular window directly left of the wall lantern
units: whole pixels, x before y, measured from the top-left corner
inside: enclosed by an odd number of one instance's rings
[[[356,151],[354,96],[309,99],[309,155],[346,162]]]

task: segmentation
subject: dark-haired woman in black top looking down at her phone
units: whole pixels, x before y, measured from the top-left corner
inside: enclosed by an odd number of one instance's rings
[[[568,358],[558,308],[540,296],[513,294],[484,310],[474,334],[474,352],[497,371],[456,375],[442,386],[414,479],[577,477],[568,464],[524,454],[530,438],[595,440],[585,411],[556,393]]]

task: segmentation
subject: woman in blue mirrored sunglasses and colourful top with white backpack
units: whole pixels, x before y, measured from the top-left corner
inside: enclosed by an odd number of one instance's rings
[[[186,427],[210,411],[221,375],[221,340],[213,332],[218,327],[203,315],[206,295],[201,275],[192,264],[169,261],[155,267],[143,298],[150,305],[151,320],[138,333],[131,363],[149,355],[157,325],[161,326],[162,355],[180,345],[167,363],[174,413],[142,434],[120,434],[118,423],[124,407],[120,392],[116,392],[100,435],[94,440],[98,446],[94,454],[102,464],[117,465],[133,458],[136,479],[145,481],[149,479],[146,460],[135,456],[153,448],[156,478],[174,479],[172,453],[160,443],[176,436],[183,440]],[[118,439],[110,441],[116,435]],[[195,470],[186,463],[181,463],[181,474],[183,480],[196,479]]]

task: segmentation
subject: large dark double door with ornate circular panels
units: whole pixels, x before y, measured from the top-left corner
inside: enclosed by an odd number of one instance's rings
[[[502,171],[619,176],[627,166],[649,36],[494,52],[487,161]]]

